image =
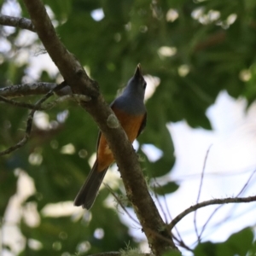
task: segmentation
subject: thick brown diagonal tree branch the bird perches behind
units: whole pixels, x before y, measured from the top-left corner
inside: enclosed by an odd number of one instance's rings
[[[73,93],[85,94],[91,97],[90,102],[80,103],[95,119],[108,140],[108,144],[118,163],[119,172],[123,177],[127,196],[133,204],[137,218],[143,226],[143,231],[148,238],[148,243],[153,253],[160,255],[166,250],[176,249],[171,233],[166,229],[166,224],[160,218],[160,213],[148,193],[143,172],[138,164],[137,154],[135,154],[131,143],[128,141],[125,131],[120,126],[115,128],[108,126],[107,120],[109,116],[113,115],[113,111],[103,100],[96,82],[87,76],[79,61],[61,44],[43,3],[40,0],[23,1],[26,4],[26,9],[31,16],[39,38],[67,84],[71,86]]]

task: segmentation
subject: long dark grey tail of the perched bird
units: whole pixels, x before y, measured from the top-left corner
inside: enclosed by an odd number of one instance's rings
[[[74,205],[76,207],[82,206],[83,208],[89,210],[92,207],[97,192],[102,184],[102,180],[105,177],[108,168],[98,172],[97,169],[98,161],[96,160],[94,166],[90,170],[89,176],[87,177],[84,185],[79,190],[79,194],[76,196],[74,200]]]

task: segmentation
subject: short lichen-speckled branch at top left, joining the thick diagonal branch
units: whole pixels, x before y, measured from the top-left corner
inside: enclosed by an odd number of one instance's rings
[[[35,27],[32,25],[31,20],[28,20],[26,18],[0,15],[0,25],[15,26],[15,27],[20,27],[23,29],[30,30],[31,32],[35,32]]]

